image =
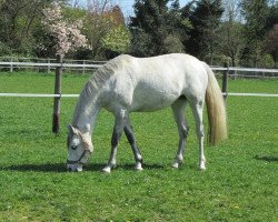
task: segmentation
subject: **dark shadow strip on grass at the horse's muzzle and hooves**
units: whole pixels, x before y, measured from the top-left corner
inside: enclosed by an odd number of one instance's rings
[[[93,163],[83,167],[85,171],[101,171],[105,164]],[[132,170],[135,171],[135,164],[119,164],[116,170]],[[143,164],[145,170],[165,169],[165,165],[160,164]],[[68,172],[66,163],[46,163],[46,164],[20,164],[20,165],[9,165],[0,167],[2,171],[20,171],[20,172],[57,172],[63,173]]]

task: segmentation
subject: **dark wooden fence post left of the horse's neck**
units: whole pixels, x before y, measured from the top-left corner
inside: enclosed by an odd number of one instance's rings
[[[60,54],[57,56],[57,63],[60,63],[60,67],[56,68],[56,78],[54,78],[54,94],[61,95],[61,78],[62,78],[62,58]],[[60,129],[60,99],[54,98],[53,103],[53,122],[52,122],[52,132],[58,134]]]

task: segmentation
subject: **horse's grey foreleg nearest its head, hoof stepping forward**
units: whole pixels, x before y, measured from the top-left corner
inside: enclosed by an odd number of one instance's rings
[[[123,130],[123,118],[116,117],[113,134],[111,139],[111,153],[107,165],[102,169],[105,172],[110,173],[111,169],[116,167],[117,147],[120,141],[122,130]]]

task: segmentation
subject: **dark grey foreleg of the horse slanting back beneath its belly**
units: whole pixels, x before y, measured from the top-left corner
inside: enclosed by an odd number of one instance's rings
[[[130,143],[130,145],[132,148],[132,152],[135,154],[136,170],[142,170],[142,157],[141,157],[141,153],[136,144],[135,133],[132,131],[132,127],[130,124],[130,120],[128,117],[125,121],[123,130],[125,130],[125,133],[127,135],[128,142]]]

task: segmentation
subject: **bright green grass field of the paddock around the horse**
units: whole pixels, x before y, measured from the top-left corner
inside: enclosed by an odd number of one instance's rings
[[[64,75],[62,92],[79,93],[87,79]],[[0,92],[52,91],[51,74],[0,73]],[[278,93],[278,81],[229,81],[229,91]],[[132,169],[122,138],[111,174],[101,172],[113,123],[106,111],[98,119],[90,163],[81,173],[66,171],[66,127],[76,101],[62,99],[56,137],[52,99],[0,98],[0,221],[277,221],[277,98],[228,98],[229,139],[206,145],[205,172],[198,170],[190,110],[186,162],[179,170],[170,167],[178,144],[170,109],[133,113],[145,170]]]

